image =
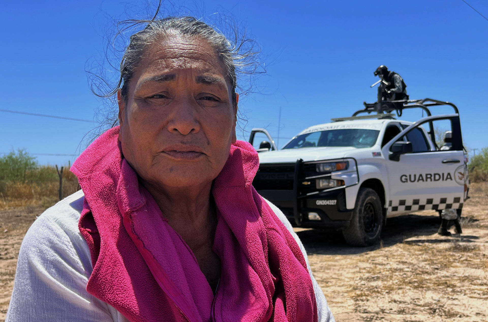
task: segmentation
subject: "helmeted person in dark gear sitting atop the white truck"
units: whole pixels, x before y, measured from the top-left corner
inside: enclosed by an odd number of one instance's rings
[[[378,102],[408,100],[407,85],[398,73],[381,65],[374,71],[374,76],[379,76],[382,80],[378,87]]]

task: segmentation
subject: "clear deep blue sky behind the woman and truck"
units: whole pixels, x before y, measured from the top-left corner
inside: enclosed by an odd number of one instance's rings
[[[486,1],[468,2],[488,16]],[[103,59],[114,19],[142,17],[147,3],[154,8],[154,2],[136,0],[3,3],[0,109],[96,120],[103,102],[90,92],[85,67]],[[369,85],[380,64],[402,75],[411,99],[455,103],[466,146],[488,146],[488,21],[462,0],[175,0],[164,6],[210,22],[215,12],[230,15],[260,43],[267,72],[253,84],[257,93],[240,101],[247,119],[242,126],[265,127],[275,137],[280,126],[280,146],[308,126],[374,102],[376,88]],[[415,121],[421,112],[404,115]],[[0,112],[0,152],[77,154],[96,126]],[[238,137],[248,133],[240,130]],[[76,158],[37,157],[41,164]]]

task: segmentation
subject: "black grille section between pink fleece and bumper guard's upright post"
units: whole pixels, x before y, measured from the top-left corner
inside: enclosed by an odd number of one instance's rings
[[[293,190],[294,163],[262,164],[252,182],[256,190]]]

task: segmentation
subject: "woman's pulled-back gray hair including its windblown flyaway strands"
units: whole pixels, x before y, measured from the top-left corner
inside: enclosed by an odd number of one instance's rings
[[[92,64],[85,68],[91,91],[96,96],[107,99],[96,112],[98,126],[90,130],[83,139],[87,144],[93,142],[106,129],[119,123],[116,95],[118,90],[121,89],[122,97],[126,100],[129,83],[144,51],[165,36],[180,34],[200,37],[215,48],[232,86],[232,101],[235,108],[236,89],[241,97],[242,94],[252,92],[255,77],[266,72],[264,64],[260,64],[258,60],[261,53],[259,44],[248,38],[245,31],[241,33],[231,18],[219,14],[211,16],[213,21],[217,21],[215,25],[220,25],[223,29],[188,16],[159,19],[157,17],[161,4],[162,1],[159,2],[152,19],[118,22],[116,35],[107,42],[104,59],[92,61]],[[129,39],[125,37],[127,34],[131,35]],[[121,56],[122,58],[117,59]],[[242,113],[241,109],[236,117],[245,123],[247,121],[241,116]],[[243,129],[239,122],[238,127]]]

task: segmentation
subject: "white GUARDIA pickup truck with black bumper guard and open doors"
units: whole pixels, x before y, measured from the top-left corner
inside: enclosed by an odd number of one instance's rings
[[[428,107],[448,105],[455,113],[431,116]],[[257,149],[255,189],[293,224],[342,230],[346,242],[377,242],[386,218],[422,210],[458,209],[468,198],[467,158],[457,107],[431,99],[407,101],[427,117],[417,122],[370,113],[333,119],[298,133],[278,150],[268,141]],[[401,110],[400,110],[401,112]],[[450,125],[449,150],[435,143],[434,124]],[[428,128],[428,130],[426,130]]]

